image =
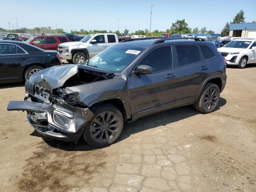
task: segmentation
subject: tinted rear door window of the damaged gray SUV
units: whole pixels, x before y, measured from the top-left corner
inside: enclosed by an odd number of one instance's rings
[[[198,47],[195,45],[177,45],[176,50],[179,66],[196,63],[201,60]]]

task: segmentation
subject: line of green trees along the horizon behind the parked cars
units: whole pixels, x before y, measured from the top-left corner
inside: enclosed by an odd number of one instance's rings
[[[244,23],[245,21],[245,16],[244,16],[244,11],[240,10],[236,14],[236,16],[233,18],[233,21],[230,23],[226,23],[224,28],[221,31],[221,36],[228,36],[229,35],[229,26],[231,23]],[[255,21],[252,21],[255,22]],[[66,33],[62,28],[57,28],[57,29],[52,29],[50,26],[48,27],[35,27],[34,29],[14,29],[14,30],[6,30],[4,28],[0,28],[0,32],[12,32],[12,33],[28,33],[28,34],[40,34],[42,32],[44,33],[49,33],[49,34],[62,34]],[[146,35],[146,36],[160,36],[163,33],[169,33],[169,34],[184,34],[184,33],[208,33],[208,34],[215,34],[213,30],[207,30],[206,27],[202,27],[200,30],[198,27],[192,29],[188,26],[188,23],[185,22],[185,19],[182,20],[177,20],[176,22],[172,23],[170,26],[170,29],[166,29],[166,31],[159,31],[159,30],[154,30],[152,32],[149,32],[148,29],[145,30],[137,30],[135,32],[130,32],[128,29],[125,29],[124,32],[120,31],[107,31],[107,30],[71,30],[71,34],[80,34],[80,35],[86,35],[86,34],[92,34],[92,33],[116,33],[118,36],[132,36],[132,35]]]

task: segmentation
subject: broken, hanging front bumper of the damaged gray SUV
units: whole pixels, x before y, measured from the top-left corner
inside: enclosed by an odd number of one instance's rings
[[[93,113],[89,108],[77,108],[65,103],[58,105],[30,101],[10,101],[8,111],[27,111],[27,118],[40,134],[63,141],[77,142]]]

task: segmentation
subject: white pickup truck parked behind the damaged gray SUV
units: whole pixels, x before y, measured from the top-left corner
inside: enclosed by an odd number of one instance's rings
[[[90,34],[77,42],[59,44],[58,55],[69,63],[80,64],[116,43],[115,33]]]

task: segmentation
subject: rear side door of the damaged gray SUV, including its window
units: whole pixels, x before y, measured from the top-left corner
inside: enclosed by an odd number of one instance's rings
[[[208,47],[203,46],[203,48],[206,49],[206,52],[210,51],[210,57],[215,57]],[[197,45],[176,45],[174,48],[178,69],[176,74],[177,106],[195,101],[195,98],[200,94],[202,82],[204,82],[210,72],[208,62],[204,59],[202,52],[201,54],[200,52],[201,50]]]

